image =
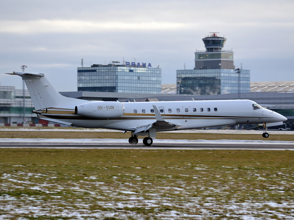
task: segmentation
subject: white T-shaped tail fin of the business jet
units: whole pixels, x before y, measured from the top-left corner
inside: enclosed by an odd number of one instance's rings
[[[22,77],[36,110],[75,103],[76,99],[59,94],[44,73],[14,71],[11,75]]]

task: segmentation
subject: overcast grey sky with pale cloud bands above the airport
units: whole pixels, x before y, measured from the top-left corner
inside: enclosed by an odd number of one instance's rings
[[[77,91],[77,67],[129,61],[160,65],[162,83],[194,67],[202,38],[220,32],[250,81],[294,80],[294,1],[1,0],[0,81],[4,72],[43,72],[60,92]]]

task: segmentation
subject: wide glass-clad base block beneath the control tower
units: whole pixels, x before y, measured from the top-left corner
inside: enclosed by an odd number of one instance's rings
[[[177,70],[177,94],[214,95],[250,92],[250,70]]]

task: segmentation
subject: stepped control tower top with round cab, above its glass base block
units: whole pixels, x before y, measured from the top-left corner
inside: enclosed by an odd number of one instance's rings
[[[196,50],[194,70],[235,69],[234,52],[232,50],[223,50],[226,38],[219,37],[217,33],[212,33],[202,40],[206,51]]]

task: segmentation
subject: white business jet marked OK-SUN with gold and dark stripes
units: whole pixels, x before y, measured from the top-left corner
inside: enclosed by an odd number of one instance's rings
[[[8,73],[9,74],[9,73]],[[86,101],[64,97],[44,73],[13,72],[26,82],[39,118],[83,128],[108,128],[131,131],[129,143],[136,145],[138,136],[147,136],[150,146],[156,132],[207,128],[233,124],[283,124],[287,118],[264,109],[251,100],[118,102]]]

